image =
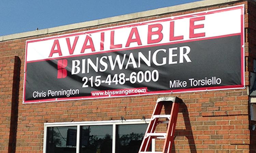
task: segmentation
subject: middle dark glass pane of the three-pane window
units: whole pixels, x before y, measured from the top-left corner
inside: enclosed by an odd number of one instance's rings
[[[112,153],[112,125],[81,126],[80,153]]]

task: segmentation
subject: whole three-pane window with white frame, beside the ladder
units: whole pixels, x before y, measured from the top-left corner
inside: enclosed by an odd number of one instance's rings
[[[44,124],[43,153],[138,152],[148,120]]]

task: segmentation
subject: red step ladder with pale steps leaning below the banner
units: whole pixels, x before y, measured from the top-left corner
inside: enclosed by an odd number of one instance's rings
[[[151,117],[151,121],[147,126],[147,130],[139,153],[170,153],[174,141],[174,132],[179,112],[179,106],[182,102],[177,97],[162,97],[156,101],[156,106]],[[165,106],[165,115],[161,115],[162,107]],[[159,119],[168,119],[169,121],[161,121]],[[166,133],[156,133],[156,126],[159,123],[167,123]],[[162,152],[149,151],[152,139],[165,139]]]

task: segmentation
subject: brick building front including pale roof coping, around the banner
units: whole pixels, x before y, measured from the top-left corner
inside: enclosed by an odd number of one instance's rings
[[[245,89],[23,104],[26,40],[119,26],[244,4]],[[172,152],[256,152],[250,73],[256,59],[256,1],[205,0],[118,17],[0,37],[0,153],[43,153],[47,127],[149,119],[158,97],[183,100]],[[116,121],[116,122],[115,122]],[[123,121],[123,120],[122,120]],[[124,121],[125,122],[125,121]],[[112,124],[112,123],[111,123]],[[117,123],[118,124],[118,123]],[[113,124],[112,124],[113,125]],[[165,127],[160,130],[164,131]],[[161,143],[156,141],[155,150]]]

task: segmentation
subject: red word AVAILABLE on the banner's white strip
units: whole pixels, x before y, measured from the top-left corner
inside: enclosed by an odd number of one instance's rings
[[[205,33],[195,33],[195,29],[200,29],[200,28],[204,28],[204,24],[195,24],[196,21],[202,21],[205,20],[204,16],[201,17],[195,17],[195,18],[190,18],[189,20],[189,38],[197,38],[197,37],[204,37]],[[174,23],[175,21],[170,21],[170,27],[169,28],[169,41],[175,41],[175,40],[183,40],[184,39],[184,35],[180,35],[180,36],[174,36]],[[159,43],[162,41],[163,39],[163,25],[166,24],[160,24],[160,23],[155,23],[155,24],[148,24],[147,27],[147,44],[153,44],[153,43]],[[167,27],[165,27],[167,28]],[[182,30],[182,29],[179,29]],[[142,45],[142,41],[141,41],[141,37],[138,31],[138,27],[131,27],[130,33],[128,38],[126,36],[122,36],[122,37],[117,37],[116,39],[118,40],[122,40],[122,43],[120,44],[115,44],[115,30],[112,29],[112,31],[110,31],[110,47],[109,48],[105,48],[104,47],[104,40],[105,40],[105,33],[106,32],[100,32],[100,37],[94,37],[94,39],[100,39],[100,41],[96,41],[99,49],[101,51],[103,50],[111,50],[111,49],[117,49],[117,48],[122,48],[123,44],[126,43],[125,47],[130,47],[131,43],[137,43],[138,46]],[[86,49],[90,49],[92,52],[95,51],[95,46],[94,46],[94,41],[92,39],[92,35],[91,34],[85,34],[85,40],[81,49],[80,53],[84,53]],[[167,34],[167,33],[165,33]],[[106,36],[109,36],[108,34]],[[127,38],[126,42],[124,38]],[[71,47],[71,42],[70,42],[70,38],[67,37],[66,38],[66,43],[67,43],[67,48],[69,51],[69,55],[72,55],[74,53],[75,47],[77,45],[79,36],[75,36],[74,41],[73,41],[73,45]],[[98,43],[99,42],[99,43]],[[144,41],[143,41],[144,42]],[[144,45],[147,45],[144,44]],[[66,48],[66,47],[65,47]],[[60,48],[60,44],[59,44],[59,40],[55,39],[51,52],[49,54],[49,57],[52,57],[53,54],[58,54],[59,56],[62,56],[62,51]]]

